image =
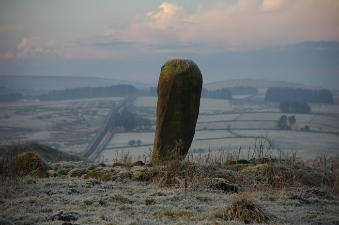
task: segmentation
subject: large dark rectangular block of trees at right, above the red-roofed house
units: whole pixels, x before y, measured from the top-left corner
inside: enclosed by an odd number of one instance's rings
[[[309,90],[302,88],[269,88],[266,91],[265,101],[299,101],[307,103],[333,103],[333,95],[329,90]]]

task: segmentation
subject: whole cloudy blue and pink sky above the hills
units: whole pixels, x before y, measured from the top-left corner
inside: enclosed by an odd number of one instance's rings
[[[339,87],[339,0],[1,0],[0,75],[156,84],[188,58],[204,83]]]

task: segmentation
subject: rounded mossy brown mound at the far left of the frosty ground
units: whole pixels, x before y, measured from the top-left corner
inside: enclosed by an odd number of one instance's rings
[[[19,177],[23,177],[34,172],[39,176],[47,172],[50,167],[42,161],[39,155],[34,152],[24,152],[18,155],[14,161],[15,172]],[[41,172],[37,172],[41,171]]]

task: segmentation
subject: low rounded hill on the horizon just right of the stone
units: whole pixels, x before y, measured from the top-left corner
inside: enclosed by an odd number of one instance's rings
[[[257,89],[267,89],[272,87],[284,87],[284,88],[304,88],[312,90],[320,90],[321,87],[306,86],[300,83],[284,82],[284,81],[272,81],[263,79],[234,79],[224,80],[213,83],[204,84],[203,87],[208,90],[217,90],[222,88],[233,87],[254,87]]]

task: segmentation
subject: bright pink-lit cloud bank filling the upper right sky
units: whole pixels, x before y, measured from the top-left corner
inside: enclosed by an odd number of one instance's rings
[[[164,2],[143,19],[116,28],[114,35],[145,45],[182,45],[181,52],[247,51],[303,41],[339,41],[338,12],[337,0],[263,0],[260,4],[239,0],[233,6],[218,3],[209,9],[200,4],[191,14],[176,3]],[[184,43],[200,47],[188,50]]]

